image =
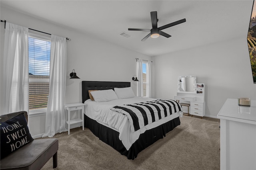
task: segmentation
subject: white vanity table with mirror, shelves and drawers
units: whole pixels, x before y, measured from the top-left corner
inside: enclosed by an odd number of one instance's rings
[[[179,76],[178,92],[174,96],[182,106],[188,106],[188,115],[205,115],[205,84],[196,83],[196,76]]]

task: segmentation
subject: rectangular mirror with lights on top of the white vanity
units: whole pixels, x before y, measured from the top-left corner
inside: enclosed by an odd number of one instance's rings
[[[195,92],[196,76],[178,76],[178,92]]]

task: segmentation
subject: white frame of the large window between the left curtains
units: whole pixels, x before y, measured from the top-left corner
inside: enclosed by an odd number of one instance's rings
[[[36,33],[28,33],[28,37],[51,42],[50,37],[46,37],[46,36],[39,35],[39,34],[36,34]],[[28,49],[28,54],[29,54],[29,49]],[[29,56],[28,56],[28,58],[29,58]],[[29,67],[29,63],[28,63],[28,67]],[[50,76],[49,76],[49,79],[28,78],[28,83],[49,83],[49,89],[50,89]],[[28,88],[28,93],[29,93],[29,91],[30,91],[30,89]],[[28,100],[28,108],[29,108],[29,102],[30,101]],[[42,112],[46,112],[46,109],[47,109],[47,107],[38,108],[38,109],[29,109],[29,113],[30,114],[31,113],[32,114],[33,113],[42,113]]]

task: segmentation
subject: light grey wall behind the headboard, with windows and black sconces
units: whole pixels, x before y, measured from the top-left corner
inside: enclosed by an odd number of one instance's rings
[[[136,93],[136,82],[132,82],[132,76],[136,74],[136,59],[152,60],[151,57],[130,51],[96,39],[92,35],[85,35],[75,30],[61,27],[47,21],[40,20],[15,12],[1,6],[1,20],[22,25],[46,33],[69,37],[67,42],[67,81],[65,103],[82,102],[82,80],[93,81],[130,81]],[[4,49],[4,23],[1,23],[1,57],[0,57],[0,80],[2,75],[3,49]],[[70,72],[76,70],[80,80],[70,80]],[[4,82],[0,82],[3,84]],[[0,87],[3,87],[2,85]],[[3,90],[2,88],[0,90]],[[2,92],[2,91],[1,91]],[[1,93],[2,94],[2,93]],[[3,96],[1,95],[1,101]],[[1,108],[4,107],[2,102]],[[1,109],[0,112],[2,113]],[[44,133],[45,115],[30,117],[30,132],[32,135]],[[42,130],[43,129],[43,130]]]

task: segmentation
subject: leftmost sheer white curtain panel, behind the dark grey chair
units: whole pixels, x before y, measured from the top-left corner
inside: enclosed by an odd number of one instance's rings
[[[4,109],[28,112],[28,28],[6,22],[3,58]]]

